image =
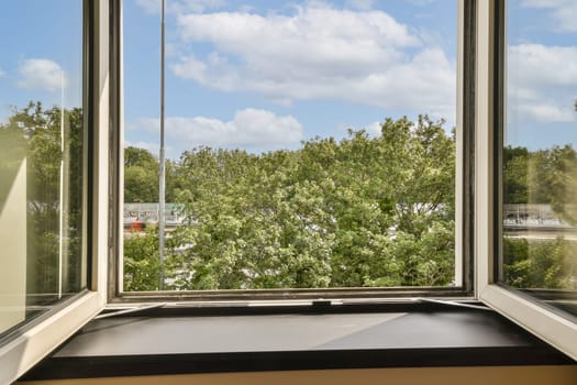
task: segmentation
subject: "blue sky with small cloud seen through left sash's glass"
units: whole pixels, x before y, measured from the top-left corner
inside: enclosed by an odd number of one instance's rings
[[[0,121],[10,107],[42,101],[78,107],[82,79],[82,8],[76,0],[12,1],[0,14]],[[64,92],[63,92],[64,85]],[[63,98],[64,97],[64,98]]]

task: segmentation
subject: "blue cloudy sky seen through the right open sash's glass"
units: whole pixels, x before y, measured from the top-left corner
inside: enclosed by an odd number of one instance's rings
[[[506,141],[577,147],[577,2],[509,1]]]

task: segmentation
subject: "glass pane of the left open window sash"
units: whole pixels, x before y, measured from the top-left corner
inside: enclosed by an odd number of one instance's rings
[[[82,1],[1,19],[0,333],[86,287]]]

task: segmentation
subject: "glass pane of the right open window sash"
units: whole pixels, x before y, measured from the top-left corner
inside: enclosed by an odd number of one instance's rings
[[[508,2],[501,279],[576,315],[574,11],[570,1]]]

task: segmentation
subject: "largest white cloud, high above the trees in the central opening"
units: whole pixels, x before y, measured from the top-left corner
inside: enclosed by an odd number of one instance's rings
[[[454,116],[455,64],[382,11],[309,2],[293,14],[217,12],[177,16],[175,75],[223,91],[291,100],[339,99]],[[213,51],[187,51],[208,42]],[[193,44],[192,44],[193,45]]]

